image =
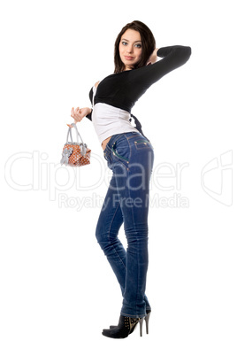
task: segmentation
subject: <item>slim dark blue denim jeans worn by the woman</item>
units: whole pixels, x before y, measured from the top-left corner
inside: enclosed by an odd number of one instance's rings
[[[111,264],[123,296],[121,315],[142,318],[150,310],[145,295],[148,257],[151,143],[140,133],[112,135],[103,151],[112,178],[96,226],[96,238]],[[127,249],[119,241],[124,223]]]

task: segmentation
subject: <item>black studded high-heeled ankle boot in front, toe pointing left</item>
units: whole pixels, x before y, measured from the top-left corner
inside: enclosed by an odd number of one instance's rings
[[[104,337],[125,338],[132,334],[138,322],[140,323],[140,336],[142,337],[142,323],[144,318],[130,318],[129,316],[120,315],[119,325],[111,329],[103,329]]]

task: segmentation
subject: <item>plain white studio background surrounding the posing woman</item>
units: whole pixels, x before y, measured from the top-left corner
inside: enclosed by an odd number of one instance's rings
[[[233,5],[1,4],[1,355],[236,355]],[[91,165],[59,161],[71,108],[89,106],[91,86],[113,73],[115,39],[134,19],[157,47],[188,45],[192,56],[134,106],[156,155],[152,315],[149,336],[112,340],[101,332],[119,320],[122,299],[95,236],[111,172],[88,119],[78,127]],[[126,244],[123,228],[120,237]]]

